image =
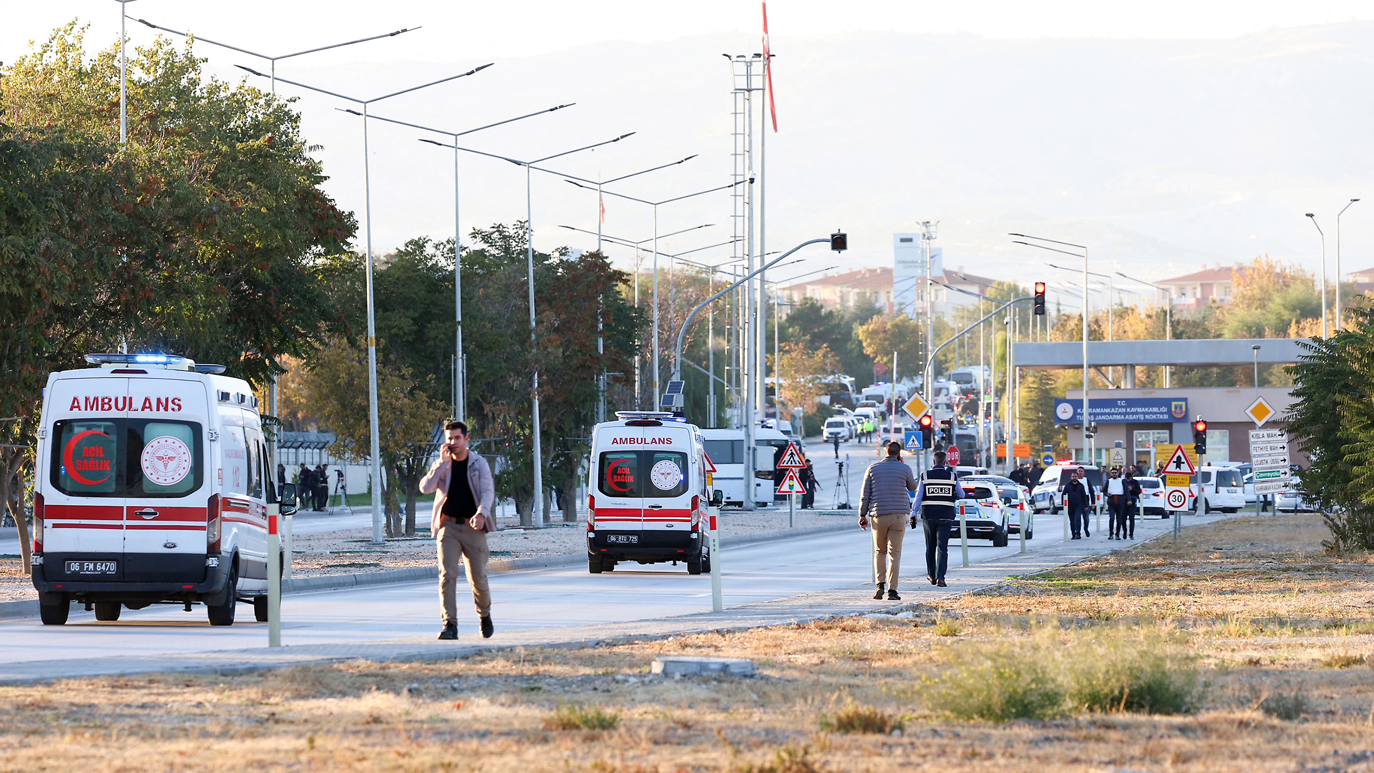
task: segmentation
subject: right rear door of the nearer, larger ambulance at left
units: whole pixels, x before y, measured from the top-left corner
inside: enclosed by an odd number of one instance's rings
[[[129,379],[124,579],[205,579],[209,395],[199,379]]]

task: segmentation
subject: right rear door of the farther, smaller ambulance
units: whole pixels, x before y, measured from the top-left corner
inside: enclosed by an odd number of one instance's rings
[[[688,552],[692,524],[691,461],[695,448],[691,431],[682,426],[646,427],[643,468],[644,541],[649,548],[679,548]]]

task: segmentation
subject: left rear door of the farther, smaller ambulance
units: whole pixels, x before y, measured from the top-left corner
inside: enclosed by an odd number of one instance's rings
[[[607,548],[633,548],[644,524],[640,463],[644,427],[603,427],[596,453],[596,533]]]

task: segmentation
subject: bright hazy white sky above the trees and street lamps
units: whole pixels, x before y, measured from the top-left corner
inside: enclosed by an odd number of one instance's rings
[[[969,272],[1026,283],[1037,279],[1037,272],[1043,273],[1043,261],[1011,251],[1013,247],[1004,244],[1004,232],[1030,227],[1050,228],[1054,235],[1066,236],[1070,242],[1094,239],[1094,244],[1109,247],[1098,251],[1106,261],[1102,268],[1146,279],[1191,270],[1202,262],[1249,259],[1260,253],[1298,261],[1315,272],[1319,266],[1315,257],[1318,240],[1301,213],[1315,209],[1326,217],[1334,216],[1338,205],[1363,194],[1359,188],[1369,181],[1367,154],[1345,170],[1337,163],[1340,155],[1336,151],[1340,148],[1330,147],[1333,143],[1323,143],[1320,137],[1312,155],[1326,155],[1312,161],[1311,170],[1303,168],[1311,159],[1293,151],[1292,146],[1281,148],[1281,154],[1292,154],[1292,158],[1281,161],[1292,163],[1278,166],[1297,168],[1282,176],[1268,169],[1221,169],[1219,163],[1226,161],[1228,148],[1224,143],[1216,144],[1216,140],[1205,150],[1200,146],[1189,158],[1178,148],[1197,141],[1191,135],[1173,137],[1173,144],[1164,151],[1164,155],[1172,155],[1168,161],[1123,165],[1121,169],[1094,176],[1103,163],[1114,163],[1113,148],[1102,148],[1091,158],[1074,158],[1073,151],[1098,144],[1101,140],[1096,136],[1065,140],[1063,147],[1054,147],[1055,136],[1072,135],[1070,126],[1032,135],[1039,144],[1021,151],[1022,158],[1046,158],[1033,159],[1029,170],[1017,169],[1021,165],[1015,163],[1011,151],[1006,155],[989,152],[992,161],[981,165],[967,158],[976,154],[970,135],[998,121],[996,104],[989,106],[970,92],[1002,80],[996,69],[1014,69],[1017,56],[1033,56],[1040,63],[1037,66],[1050,73],[1062,71],[1055,70],[1062,65],[1054,60],[1058,47],[1077,52],[1076,56],[1102,56],[1103,60],[1116,55],[1114,48],[1129,48],[1142,51],[1142,60],[1149,60],[1151,67],[1158,62],[1189,58],[1231,56],[1228,65],[1231,60],[1272,59],[1282,67],[1293,63],[1307,67],[1301,70],[1303,77],[1316,73],[1323,88],[1336,89],[1340,73],[1333,70],[1327,77],[1323,67],[1336,67],[1338,62],[1326,63],[1312,56],[1325,55],[1323,48],[1336,51],[1341,47],[1353,47],[1363,55],[1363,43],[1326,38],[1287,41],[1285,36],[1290,30],[1318,25],[1374,19],[1374,4],[1367,1],[860,0],[837,4],[774,0],[768,12],[774,51],[779,56],[776,76],[783,130],[769,135],[769,169],[774,170],[769,174],[776,183],[769,192],[768,217],[776,225],[769,225],[765,249],[772,251],[834,228],[848,229],[853,244],[844,257],[813,254],[791,266],[790,272],[890,266],[892,233],[914,231],[915,222],[923,218],[943,221],[940,233],[951,266],[967,264]],[[269,55],[419,26],[401,36],[282,60],[278,74],[349,95],[375,96],[495,62],[496,67],[478,76],[394,97],[374,106],[372,113],[452,130],[576,102],[573,108],[558,115],[473,135],[469,147],[515,158],[539,158],[636,132],[622,143],[556,162],[558,172],[588,178],[698,154],[680,168],[646,174],[624,183],[621,188],[628,195],[655,200],[727,181],[728,71],[719,55],[723,49],[756,51],[760,32],[760,7],[753,0],[672,4],[610,0],[578,4],[135,0],[128,4],[128,14]],[[88,41],[92,45],[107,45],[118,36],[120,16],[114,0],[27,3],[7,8],[4,18],[5,23],[0,25],[0,62],[14,60],[27,51],[29,40],[43,40],[51,29],[73,18],[89,22]],[[135,22],[129,25],[133,43],[151,40],[154,30]],[[892,70],[893,62],[897,62],[894,55],[874,45],[874,41],[888,40],[885,34],[907,36],[893,49],[907,47],[903,51],[916,59],[901,59],[900,66],[910,67],[912,60],[918,62],[919,73],[912,74],[925,80]],[[1245,40],[1235,45],[1259,45],[1263,51],[1245,56],[1227,54],[1228,41],[1242,37]],[[1113,40],[1127,43],[1113,47]],[[1220,43],[1213,45],[1208,41]],[[210,45],[198,45],[196,49],[209,56],[206,70],[218,77],[238,80],[242,71],[234,65],[265,70],[264,62],[243,54]],[[969,86],[959,80],[963,70],[949,73],[945,80],[936,78],[937,65],[932,63],[940,56],[951,62],[967,60],[970,70],[982,67],[978,70],[982,80]],[[1253,70],[1253,65],[1250,67]],[[1257,81],[1265,86],[1256,92],[1257,100],[1272,91],[1270,84],[1282,84],[1298,71],[1282,67],[1263,74],[1271,81]],[[1142,69],[1146,70],[1156,71]],[[1129,71],[1123,77],[1128,78]],[[802,78],[804,82],[798,82]],[[256,82],[265,86],[262,81]],[[904,92],[908,82],[916,84],[910,88],[921,91]],[[359,119],[335,110],[346,107],[337,99],[293,91],[286,84],[279,84],[279,92],[298,97],[295,107],[302,111],[306,139],[324,147],[320,158],[331,177],[326,191],[341,206],[357,211],[361,220]],[[872,110],[874,103],[899,93],[911,96],[916,103],[929,95],[929,103],[921,106],[923,111],[894,107],[885,115],[882,110]],[[1158,114],[1158,106],[1172,99],[1169,93],[1140,93],[1140,104],[1149,104],[1154,114]],[[852,104],[851,96],[868,104]],[[1061,96],[1057,95],[1057,99]],[[1112,102],[1112,96],[1094,95],[1094,102]],[[1327,92],[1323,92],[1323,99],[1326,96]],[[999,99],[1006,99],[1006,95]],[[1065,99],[1072,99],[1072,95]],[[1112,110],[1125,121],[1132,104],[1129,99],[1116,102],[1120,104]],[[1033,110],[1035,106],[1021,104],[1021,108]],[[856,126],[835,119],[837,114],[851,113],[863,114],[867,124]],[[1243,104],[1232,113],[1243,115]],[[949,121],[949,132],[941,135],[934,128],[919,128],[910,135],[903,133],[905,126],[923,121],[925,115]],[[1226,119],[1238,121],[1235,115]],[[1043,118],[1036,115],[1036,121]],[[1340,118],[1338,108],[1333,110],[1333,118]],[[1125,125],[1121,121],[1106,125],[1113,132],[1121,132]],[[1198,122],[1215,124],[1216,118],[1204,113]],[[378,251],[394,249],[420,233],[437,238],[452,235],[452,155],[416,144],[419,137],[415,130],[372,126],[368,158],[374,247]],[[1265,141],[1287,143],[1311,130],[1311,125],[1303,125],[1286,135],[1265,137]],[[877,152],[886,146],[863,141],[870,132],[901,148],[900,152],[894,157]],[[1138,143],[1131,146],[1131,152],[1154,150],[1153,146],[1139,144],[1139,139],[1127,140]],[[1341,141],[1345,140],[1352,147],[1363,144],[1358,137],[1341,137]],[[988,141],[1004,146],[1006,136],[989,135]],[[962,150],[944,152],[938,143]],[[1245,163],[1272,158],[1274,152],[1272,147],[1250,150],[1253,155],[1243,158]],[[962,163],[947,163],[945,155],[959,152],[963,154]],[[1073,166],[1077,176],[1059,174],[1055,163]],[[518,169],[475,155],[464,155],[460,165],[464,232],[473,225],[525,217],[526,189]],[[905,168],[910,168],[910,174],[897,174]],[[829,176],[835,178],[827,180]],[[1103,194],[1096,188],[1110,191]],[[595,229],[595,195],[587,196],[555,176],[541,177],[537,173],[530,189],[539,249],[594,246],[594,239],[592,243],[577,242],[581,236],[576,232],[556,227]],[[710,229],[662,240],[661,249],[688,250],[728,238],[728,202],[708,195],[661,207],[660,232],[706,222],[713,224]],[[1360,209],[1352,210],[1344,222],[1347,250],[1371,255],[1371,259],[1348,258],[1342,268],[1366,268],[1366,262],[1374,265],[1374,206],[1367,216]],[[607,202],[607,233],[640,240],[653,233],[653,227],[650,207]],[[1326,228],[1330,231],[1329,221]],[[1363,232],[1370,236],[1362,236]],[[360,232],[360,243],[363,238]],[[727,255],[728,251],[708,250],[698,257],[713,262]],[[621,265],[632,259],[624,251],[613,253],[613,257]],[[1352,265],[1351,259],[1360,265]]]

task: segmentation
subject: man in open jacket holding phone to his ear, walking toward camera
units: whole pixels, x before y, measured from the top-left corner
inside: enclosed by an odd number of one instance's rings
[[[467,446],[467,424],[444,424],[444,448],[438,461],[420,479],[420,493],[434,494],[430,531],[438,542],[438,593],[444,605],[444,630],[440,638],[458,638],[458,564],[463,557],[467,585],[473,589],[482,638],[492,626],[492,592],[486,584],[486,560],[491,548],[486,534],[496,530],[492,503],[496,486],[492,468],[481,454]]]

